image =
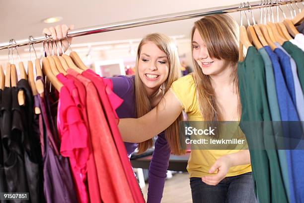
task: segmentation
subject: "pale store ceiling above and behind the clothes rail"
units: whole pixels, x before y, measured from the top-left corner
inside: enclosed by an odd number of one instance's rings
[[[29,35],[40,36],[44,27],[56,25],[43,22],[43,19],[52,16],[62,16],[60,24],[74,24],[75,28],[84,28],[238,3],[239,0],[50,0],[43,3],[41,0],[1,0],[0,42],[7,42],[11,38],[24,39]],[[239,13],[231,15],[239,21]],[[255,10],[255,18],[259,18],[258,9]],[[151,32],[162,32],[169,36],[184,35],[187,38],[195,20],[197,19],[76,37],[73,44],[138,39]],[[7,50],[0,50],[0,55],[4,54],[7,54]]]

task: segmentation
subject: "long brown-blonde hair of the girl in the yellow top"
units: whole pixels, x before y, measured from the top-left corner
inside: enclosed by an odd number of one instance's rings
[[[231,65],[231,80],[234,91],[238,94],[237,62],[238,62],[238,29],[237,23],[227,14],[210,15],[194,22],[191,31],[191,46],[193,54],[193,34],[197,29],[211,58],[222,59],[225,64]],[[212,87],[210,76],[205,75],[193,59],[195,74],[193,78],[196,84],[198,101],[204,120],[222,121],[223,114],[217,105],[214,88]],[[241,112],[240,100],[238,102],[238,114]]]

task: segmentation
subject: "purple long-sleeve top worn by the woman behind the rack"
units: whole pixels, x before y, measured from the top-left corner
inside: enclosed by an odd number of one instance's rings
[[[119,118],[136,118],[135,112],[135,77],[118,76],[110,78],[113,91],[124,102],[116,109]],[[135,151],[138,144],[125,142],[128,156]],[[152,160],[149,167],[148,203],[160,203],[167,168],[169,166],[170,148],[164,133],[157,135]]]

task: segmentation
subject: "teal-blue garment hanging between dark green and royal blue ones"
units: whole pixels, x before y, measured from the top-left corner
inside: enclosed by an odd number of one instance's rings
[[[266,88],[267,88],[267,98],[269,102],[269,110],[271,114],[271,120],[273,121],[281,121],[280,109],[277,99],[277,91],[276,91],[276,84],[275,84],[275,77],[273,73],[273,67],[271,59],[269,58],[266,50],[264,47],[260,48],[258,52],[261,54],[264,65],[265,65],[265,77],[266,77]],[[280,122],[273,122],[273,131],[275,133],[276,138],[283,138],[280,135],[283,132],[283,128]],[[282,143],[281,140],[276,140],[276,142]],[[283,146],[279,144],[279,146]],[[285,187],[285,191],[287,193],[287,197],[290,197],[289,192],[289,179],[288,179],[288,167],[287,167],[287,160],[286,160],[286,152],[285,150],[278,150],[278,158],[280,162],[280,168],[283,178],[283,183]]]

